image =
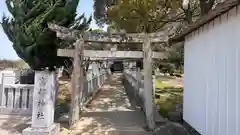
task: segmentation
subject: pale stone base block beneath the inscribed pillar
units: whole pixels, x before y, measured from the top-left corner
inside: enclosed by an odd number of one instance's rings
[[[22,135],[59,135],[60,124],[53,124],[48,128],[26,128],[22,131]]]

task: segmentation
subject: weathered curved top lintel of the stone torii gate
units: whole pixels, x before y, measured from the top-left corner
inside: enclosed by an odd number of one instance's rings
[[[144,42],[145,33],[91,33],[85,31],[72,30],[56,24],[48,24],[48,27],[57,33],[57,37],[62,40],[76,41],[78,39],[91,43],[106,44],[138,44]],[[165,43],[168,35],[164,32],[147,33],[151,43]]]

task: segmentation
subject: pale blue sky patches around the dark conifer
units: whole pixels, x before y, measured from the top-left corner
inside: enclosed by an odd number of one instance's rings
[[[5,5],[5,0],[0,0],[0,19],[2,18],[3,12],[8,14],[7,7]],[[78,14],[85,13],[86,16],[90,16],[93,13],[93,0],[80,0],[80,4],[78,6]],[[97,28],[95,21],[92,21],[92,28]],[[9,59],[16,60],[19,59],[17,54],[12,48],[12,43],[8,40],[7,36],[2,30],[0,26],[0,59]]]

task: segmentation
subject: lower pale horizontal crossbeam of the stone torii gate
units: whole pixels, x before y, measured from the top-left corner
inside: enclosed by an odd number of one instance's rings
[[[58,56],[62,57],[73,57],[73,49],[58,49]],[[84,50],[84,57],[90,58],[143,58],[142,51],[94,51],[94,50]],[[166,58],[166,53],[164,52],[153,52],[152,58],[162,59]]]

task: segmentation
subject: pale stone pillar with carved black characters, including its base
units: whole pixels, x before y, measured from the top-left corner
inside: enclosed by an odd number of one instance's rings
[[[54,123],[56,73],[36,71],[33,93],[32,125],[23,130],[23,135],[58,135],[59,124]]]

